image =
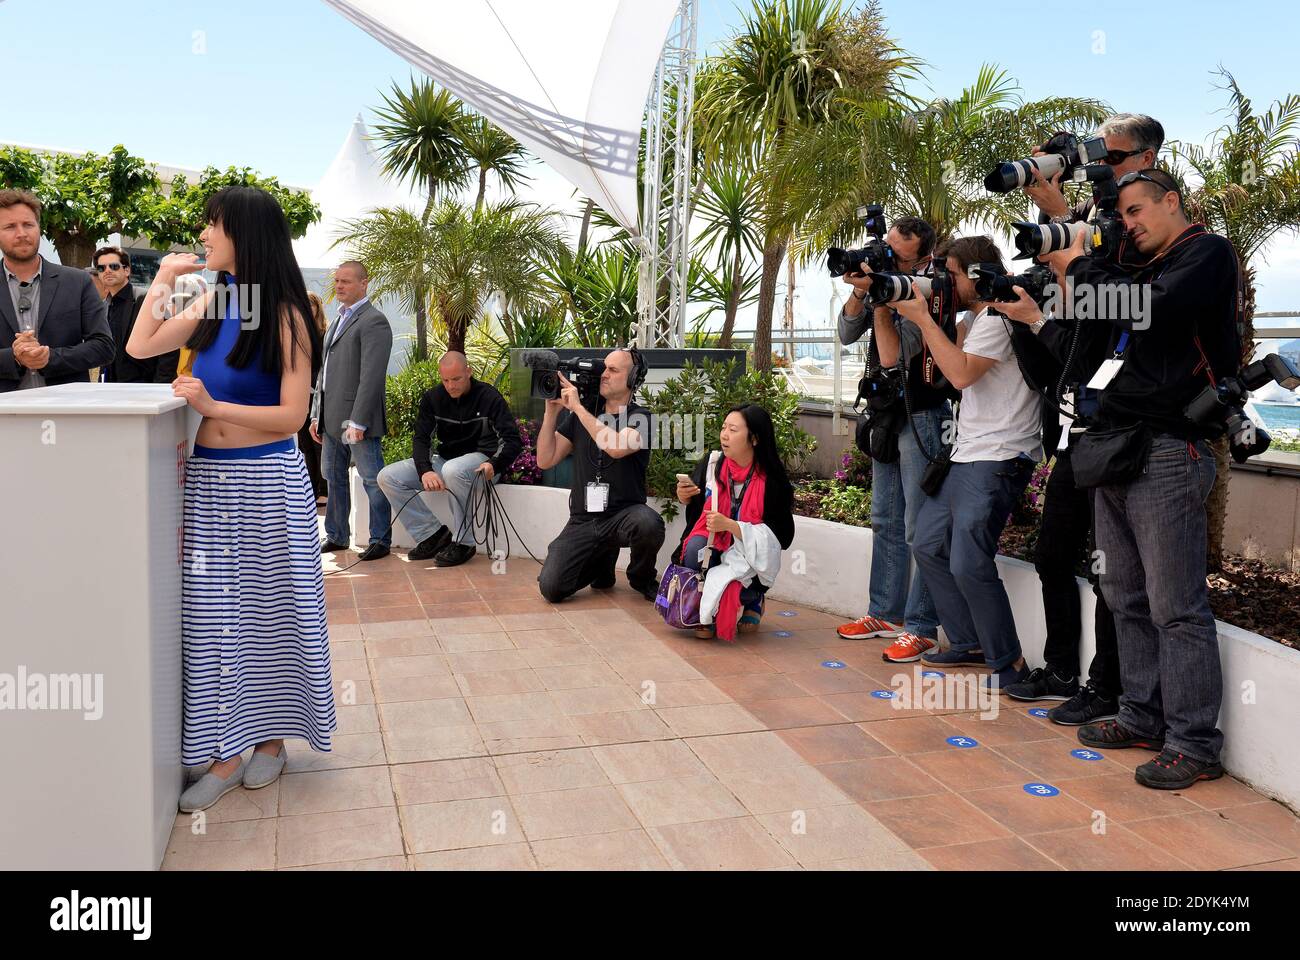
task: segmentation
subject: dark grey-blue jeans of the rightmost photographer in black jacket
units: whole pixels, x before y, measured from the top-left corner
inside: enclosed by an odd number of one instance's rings
[[[1119,722],[1206,762],[1223,747],[1218,631],[1205,587],[1214,458],[1160,434],[1141,475],[1097,488],[1101,592],[1119,636]]]

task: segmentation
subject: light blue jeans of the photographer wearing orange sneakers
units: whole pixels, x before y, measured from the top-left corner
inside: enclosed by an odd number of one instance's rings
[[[911,415],[916,433],[931,457],[942,449],[944,423],[952,410],[942,403]],[[871,588],[867,613],[904,630],[933,640],[939,636],[939,613],[926,580],[911,575],[911,545],[916,514],[926,500],[920,477],[928,460],[916,446],[911,428],[898,434],[898,462],[871,463]]]

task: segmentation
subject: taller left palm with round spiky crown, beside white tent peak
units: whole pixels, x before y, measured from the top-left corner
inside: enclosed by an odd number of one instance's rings
[[[384,170],[413,183],[425,194],[421,225],[429,222],[439,196],[463,189],[469,181],[469,161],[460,140],[464,107],[446,90],[437,90],[428,78],[411,78],[410,90],[396,83],[382,94],[376,108],[378,124],[372,139],[378,143]],[[416,268],[420,261],[416,261]],[[410,277],[410,302],[415,310],[416,359],[429,355],[428,277],[419,269]],[[406,291],[403,291],[406,295]]]

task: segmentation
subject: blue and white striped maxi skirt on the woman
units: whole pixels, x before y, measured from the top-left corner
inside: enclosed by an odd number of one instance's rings
[[[294,441],[196,444],[182,542],[181,761],[285,736],[329,751],[338,723],[316,497]]]

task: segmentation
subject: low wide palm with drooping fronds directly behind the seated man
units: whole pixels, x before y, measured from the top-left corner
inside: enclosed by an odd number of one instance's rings
[[[374,295],[395,294],[410,310],[429,291],[447,349],[462,353],[465,330],[494,291],[525,312],[549,303],[551,287],[532,264],[563,246],[554,215],[536,204],[504,200],[472,209],[454,199],[439,200],[426,221],[402,208],[376,209],[348,221],[338,242],[367,264]]]

